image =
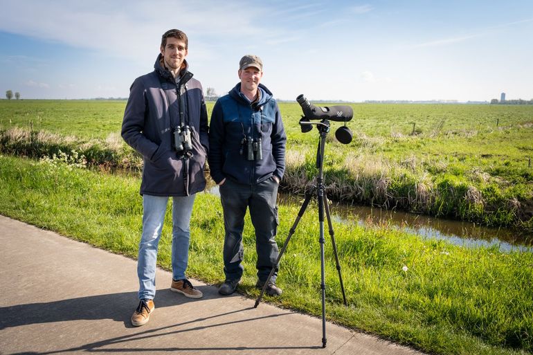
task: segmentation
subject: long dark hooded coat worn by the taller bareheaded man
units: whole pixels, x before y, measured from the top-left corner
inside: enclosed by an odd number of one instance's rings
[[[175,78],[161,66],[137,78],[129,91],[122,136],[144,158],[141,194],[188,196],[204,190],[204,165],[209,150],[208,117],[204,93],[192,78],[187,62]],[[191,130],[192,156],[179,156],[172,148],[177,125]]]

